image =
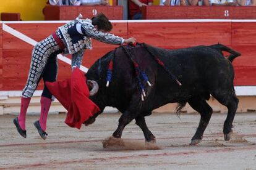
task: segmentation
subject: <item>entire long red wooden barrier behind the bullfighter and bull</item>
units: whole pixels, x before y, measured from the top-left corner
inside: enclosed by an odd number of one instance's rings
[[[46,38],[63,23],[6,23],[35,41]],[[1,24],[0,24],[1,25]],[[2,27],[2,25],[1,25]],[[1,28],[0,27],[0,28]],[[256,23],[255,22],[124,22],[114,23],[112,33],[166,49],[177,49],[220,42],[242,53],[234,60],[235,85],[256,85]],[[2,34],[2,36],[1,36]],[[2,38],[2,41],[1,41]],[[4,43],[2,43],[4,42]],[[0,29],[0,90],[22,90],[27,79],[33,47]],[[93,40],[83,65],[90,67],[96,59],[117,46]],[[2,57],[1,57],[2,51]],[[70,56],[68,56],[70,59]],[[59,61],[58,79],[68,78],[70,66]],[[42,83],[39,86],[41,89]]]

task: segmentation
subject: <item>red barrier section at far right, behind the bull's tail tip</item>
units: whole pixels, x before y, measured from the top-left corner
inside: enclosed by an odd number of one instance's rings
[[[236,79],[239,85],[256,84],[256,23],[232,23],[232,47],[242,53],[242,57],[234,60]]]

